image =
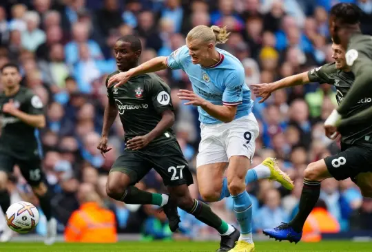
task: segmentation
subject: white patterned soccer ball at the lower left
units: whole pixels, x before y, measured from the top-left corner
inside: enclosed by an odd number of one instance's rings
[[[39,211],[30,202],[12,204],[6,211],[6,224],[17,233],[28,233],[39,223]]]

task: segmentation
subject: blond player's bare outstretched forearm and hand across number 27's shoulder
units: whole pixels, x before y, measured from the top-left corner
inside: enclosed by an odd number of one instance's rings
[[[112,87],[112,85],[115,85],[114,87],[119,87],[134,76],[149,72],[158,72],[165,69],[167,69],[167,57],[159,56],[154,59],[150,59],[149,61],[146,61],[145,63],[142,63],[141,65],[138,65],[127,72],[120,72],[114,76],[111,76],[108,81],[108,87]]]

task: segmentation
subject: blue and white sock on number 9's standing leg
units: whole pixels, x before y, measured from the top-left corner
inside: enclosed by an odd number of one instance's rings
[[[247,191],[243,191],[236,196],[231,196],[234,200],[234,213],[240,225],[240,238],[248,243],[253,243],[252,229],[252,202]]]

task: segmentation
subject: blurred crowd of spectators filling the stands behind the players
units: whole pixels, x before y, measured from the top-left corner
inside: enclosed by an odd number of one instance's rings
[[[128,205],[107,198],[105,182],[123,150],[123,127],[116,120],[110,132],[112,151],[103,158],[96,146],[107,102],[105,78],[116,70],[112,51],[116,39],[136,34],[143,43],[141,62],[167,56],[185,44],[196,25],[226,25],[229,41],[220,48],[234,54],[245,67],[246,83],[270,83],[332,62],[327,12],[337,0],[2,0],[0,2],[0,66],[19,63],[22,85],[45,105],[47,127],[41,132],[43,169],[54,193],[52,204],[63,232],[88,187],[116,218],[119,233],[142,233],[144,239],[167,239],[164,213],[152,206]],[[372,34],[372,1],[357,3],[365,12],[362,29]],[[191,88],[184,72],[157,73],[172,87],[178,142],[195,173],[200,128],[196,107],[183,105],[177,90]],[[247,186],[254,201],[254,231],[288,221],[297,211],[302,174],[309,162],[339,149],[324,136],[322,122],[337,105],[331,85],[312,83],[275,92],[265,103],[255,102],[260,136],[252,166],[266,157],[295,181],[293,191],[263,180]],[[27,143],[25,143],[27,144]],[[194,178],[196,181],[196,178]],[[199,181],[203,182],[203,181]],[[152,171],[137,187],[165,191]],[[82,188],[83,187],[83,188]],[[9,188],[13,200],[37,204],[15,169]],[[85,189],[84,189],[85,188]],[[198,198],[197,182],[190,186]],[[89,191],[89,190],[88,190]],[[89,194],[89,193],[88,193]],[[351,180],[322,182],[319,214],[334,220],[331,231],[372,229],[372,200],[363,199]],[[231,200],[211,204],[223,219],[234,223]],[[41,210],[40,210],[41,211]],[[317,214],[318,214],[317,213]],[[42,215],[42,213],[41,213]],[[180,238],[214,233],[180,211]],[[318,219],[316,219],[318,220]],[[45,233],[45,220],[37,227]]]

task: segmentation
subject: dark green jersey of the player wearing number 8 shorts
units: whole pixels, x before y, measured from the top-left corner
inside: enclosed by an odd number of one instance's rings
[[[309,80],[311,82],[328,83],[334,85],[337,94],[336,98],[338,104],[342,102],[344,96],[349,92],[351,85],[354,83],[354,74],[352,72],[344,72],[335,68],[335,63],[329,63],[322,65],[316,69],[308,72]],[[353,105],[345,118],[352,116],[358,112],[362,112],[364,109],[371,107],[372,98],[366,95],[366,98],[361,99]],[[353,144],[355,141],[364,139],[366,136],[372,136],[372,125],[366,123],[361,125],[354,125],[353,127],[345,127],[340,129],[342,136],[341,140],[346,144]]]

